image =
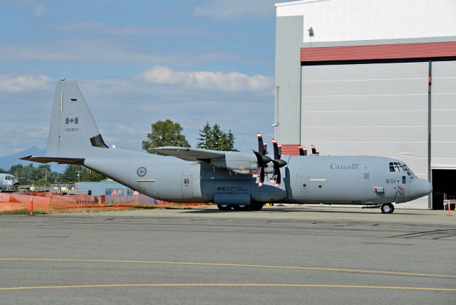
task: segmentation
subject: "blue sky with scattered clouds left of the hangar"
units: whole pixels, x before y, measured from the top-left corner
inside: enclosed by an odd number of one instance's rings
[[[196,145],[274,131],[274,1],[0,0],[0,156],[46,147],[58,78],[76,78],[108,145],[140,150],[170,118]]]

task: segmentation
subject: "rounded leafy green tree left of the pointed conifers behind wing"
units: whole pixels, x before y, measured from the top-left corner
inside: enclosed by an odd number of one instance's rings
[[[147,153],[157,154],[154,148],[160,146],[180,146],[190,148],[185,135],[182,135],[183,128],[179,123],[174,123],[172,120],[157,120],[150,125],[151,132],[147,133],[147,140],[142,141],[142,149]]]

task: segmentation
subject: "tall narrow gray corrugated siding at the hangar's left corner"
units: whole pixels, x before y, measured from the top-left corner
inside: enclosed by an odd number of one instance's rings
[[[301,105],[301,65],[303,17],[276,19],[276,111],[274,138],[279,143],[299,143],[299,108]]]

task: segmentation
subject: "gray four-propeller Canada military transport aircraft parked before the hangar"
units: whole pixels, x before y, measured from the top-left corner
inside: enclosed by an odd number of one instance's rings
[[[391,213],[432,187],[403,162],[387,157],[267,155],[261,136],[252,153],[156,148],[151,155],[105,144],[74,80],[58,81],[45,156],[34,162],[83,165],[170,202],[214,202],[220,210],[261,210],[266,202],[372,205]],[[167,155],[167,156],[163,156]],[[266,179],[269,178],[269,179]]]

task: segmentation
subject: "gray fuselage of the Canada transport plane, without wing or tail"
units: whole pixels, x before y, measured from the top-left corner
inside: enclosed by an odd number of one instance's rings
[[[402,162],[387,157],[285,156],[281,186],[266,180],[259,187],[251,175],[204,162],[118,149],[95,150],[102,150],[103,157],[87,157],[84,165],[145,195],[170,202],[380,205],[414,200],[430,192],[429,182],[403,170]],[[401,171],[390,170],[394,162],[403,165]]]

